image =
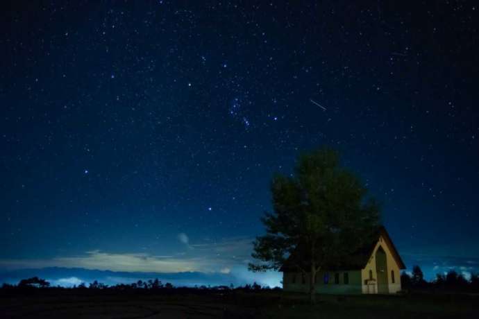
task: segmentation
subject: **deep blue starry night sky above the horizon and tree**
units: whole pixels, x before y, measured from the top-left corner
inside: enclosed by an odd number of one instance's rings
[[[479,270],[476,1],[8,2],[0,270],[277,284],[246,271],[269,182],[321,146],[409,269]]]

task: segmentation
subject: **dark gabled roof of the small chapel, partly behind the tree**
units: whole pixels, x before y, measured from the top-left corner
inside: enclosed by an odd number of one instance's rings
[[[376,244],[378,243],[381,236],[383,237],[387,247],[389,248],[389,251],[392,253],[392,256],[396,260],[396,263],[398,264],[399,269],[405,269],[406,266],[403,262],[403,259],[401,259],[401,256],[399,255],[398,250],[396,249],[396,246],[394,246],[394,243],[392,242],[391,237],[387,233],[386,228],[384,226],[380,226],[378,227],[376,234],[373,237],[371,237],[372,238],[371,242],[365,243],[361,248],[359,248],[358,251],[355,252],[355,254],[353,254],[351,260],[348,261],[348,263],[337,266],[335,267],[335,269],[331,269],[331,270],[355,270],[355,269],[360,270],[366,267],[369,261],[369,258],[373,254],[374,248],[376,248]],[[290,264],[289,262],[290,258],[291,257],[289,257],[287,261],[285,262],[285,264],[281,266],[279,271],[287,272],[287,271],[296,270],[296,267]],[[305,264],[303,264],[303,267],[305,269],[309,269],[308,265],[305,265]]]

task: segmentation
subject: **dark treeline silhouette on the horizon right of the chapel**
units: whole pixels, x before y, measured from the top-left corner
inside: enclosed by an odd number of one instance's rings
[[[469,279],[455,270],[448,273],[437,274],[435,279],[427,282],[419,266],[412,268],[411,275],[401,274],[401,286],[404,291],[408,290],[432,290],[432,291],[457,291],[457,292],[479,292],[479,274],[471,274]]]

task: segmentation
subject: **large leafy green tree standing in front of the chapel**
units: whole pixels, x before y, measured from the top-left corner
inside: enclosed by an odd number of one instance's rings
[[[351,171],[339,166],[339,155],[323,148],[301,155],[294,175],[276,174],[271,181],[272,213],[262,223],[264,236],[254,241],[253,271],[278,270],[287,261],[310,273],[314,303],[316,274],[353,259],[353,252],[371,240],[379,209]]]

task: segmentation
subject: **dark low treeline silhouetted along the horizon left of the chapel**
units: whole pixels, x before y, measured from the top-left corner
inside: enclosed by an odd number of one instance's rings
[[[280,288],[269,288],[269,286],[260,286],[254,282],[252,285],[246,284],[244,286],[235,287],[233,284],[230,286],[194,286],[194,287],[175,287],[173,284],[167,282],[163,284],[158,279],[151,279],[148,281],[138,280],[132,284],[116,284],[108,286],[97,282],[96,280],[90,284],[81,283],[78,286],[62,287],[51,286],[45,279],[38,277],[32,277],[28,279],[22,279],[18,284],[3,284],[1,290],[10,291],[32,291],[39,289],[65,289],[71,291],[260,291],[260,290],[276,290]]]

